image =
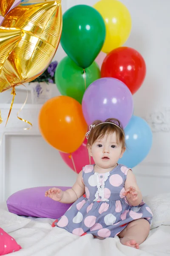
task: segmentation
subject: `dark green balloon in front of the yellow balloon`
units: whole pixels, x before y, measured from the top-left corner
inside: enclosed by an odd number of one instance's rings
[[[89,67],[105,42],[102,16],[91,6],[77,5],[63,15],[61,45],[67,55],[82,68]]]

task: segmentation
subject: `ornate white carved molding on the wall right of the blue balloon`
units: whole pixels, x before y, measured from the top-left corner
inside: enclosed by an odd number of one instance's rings
[[[159,111],[150,113],[146,121],[150,125],[153,132],[169,132],[170,131],[170,108],[163,108]]]

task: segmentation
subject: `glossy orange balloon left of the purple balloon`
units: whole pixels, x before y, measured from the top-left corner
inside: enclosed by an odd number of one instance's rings
[[[81,104],[68,96],[49,99],[40,110],[39,128],[54,148],[65,153],[76,151],[87,132]]]

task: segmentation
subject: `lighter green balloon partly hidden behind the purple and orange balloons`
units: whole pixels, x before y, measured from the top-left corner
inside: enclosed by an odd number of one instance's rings
[[[62,95],[70,96],[82,104],[85,88],[100,78],[99,66],[93,62],[83,70],[68,56],[59,62],[55,71],[55,82]]]

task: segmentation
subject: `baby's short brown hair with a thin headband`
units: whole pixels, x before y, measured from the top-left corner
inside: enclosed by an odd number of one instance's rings
[[[93,145],[97,139],[102,139],[105,134],[113,134],[116,132],[117,143],[122,144],[122,148],[125,148],[125,133],[118,119],[108,118],[105,122],[96,120],[90,127],[90,131],[88,132],[88,145]]]

